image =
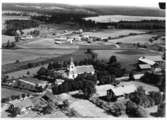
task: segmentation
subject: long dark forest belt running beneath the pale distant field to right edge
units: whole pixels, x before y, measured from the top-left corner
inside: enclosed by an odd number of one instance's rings
[[[85,20],[85,15],[79,14],[56,14],[51,17],[48,16],[33,16],[32,19],[40,20],[49,23],[64,23],[73,22],[80,27],[88,28],[108,28],[112,26],[118,29],[164,29],[165,21],[163,20],[142,20],[142,21],[120,21],[120,22],[108,22],[99,23],[93,20]]]

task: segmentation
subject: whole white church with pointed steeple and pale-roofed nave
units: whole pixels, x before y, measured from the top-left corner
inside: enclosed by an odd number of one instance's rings
[[[68,68],[68,78],[74,79],[83,73],[91,73],[93,75],[95,73],[95,69],[92,65],[75,66],[73,59],[71,58],[71,62]]]

